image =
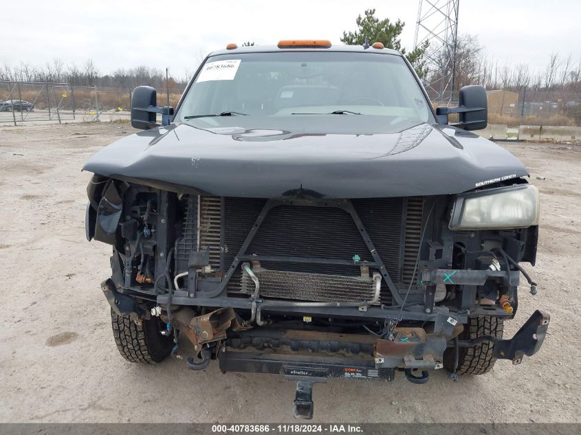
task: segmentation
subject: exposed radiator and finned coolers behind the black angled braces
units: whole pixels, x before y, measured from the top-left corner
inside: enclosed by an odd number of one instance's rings
[[[184,196],[183,237],[176,244],[176,259],[181,258],[183,264],[193,249],[191,242],[197,238],[197,248],[210,252],[212,271],[223,276],[266,201]],[[391,280],[397,287],[408,284],[419,249],[423,199],[353,199],[351,203]],[[371,275],[375,270],[362,268],[366,261],[373,263],[373,256],[352,216],[342,208],[277,205],[265,215],[245,255],[258,259],[252,262],[253,270],[264,298],[348,302],[369,300],[373,296]],[[265,256],[328,261],[261,259]],[[237,267],[228,282],[228,294],[247,295],[252,291],[254,283]],[[391,304],[391,293],[385,282],[381,300]]]

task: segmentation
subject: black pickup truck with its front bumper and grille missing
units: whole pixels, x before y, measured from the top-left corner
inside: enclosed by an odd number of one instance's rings
[[[434,110],[380,43],[231,44],[175,111],[137,87],[131,124],[143,131],[84,168],[87,239],[113,246],[102,291],[129,361],[188,339],[191,369],[281,374],[310,418],[329,377],[457,379],[540,348],[542,311],[503,339],[521,274],[536,292],[519,263],[535,263],[539,194],[470,133],[487,125],[482,87]]]

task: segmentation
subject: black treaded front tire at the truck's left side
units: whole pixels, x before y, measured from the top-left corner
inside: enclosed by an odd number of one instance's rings
[[[163,361],[171,353],[173,335],[160,333],[166,326],[159,317],[143,320],[139,326],[111,309],[111,326],[119,353],[127,361],[153,364]]]

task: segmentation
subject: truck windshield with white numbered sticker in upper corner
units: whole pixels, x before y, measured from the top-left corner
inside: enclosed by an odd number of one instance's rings
[[[432,116],[400,56],[353,52],[272,52],[208,58],[176,120],[219,115]]]

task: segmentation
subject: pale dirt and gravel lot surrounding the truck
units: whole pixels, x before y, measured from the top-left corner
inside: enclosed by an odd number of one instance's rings
[[[0,421],[292,421],[294,383],[186,368],[186,343],[158,366],[118,355],[99,283],[109,246],[85,241],[83,162],[132,133],[127,124],[0,128]],[[503,144],[542,192],[538,295],[520,292],[512,335],[536,308],[551,313],[540,353],[482,377],[417,386],[334,380],[314,387],[314,421],[581,422],[581,147]],[[546,177],[537,180],[535,177]]]

